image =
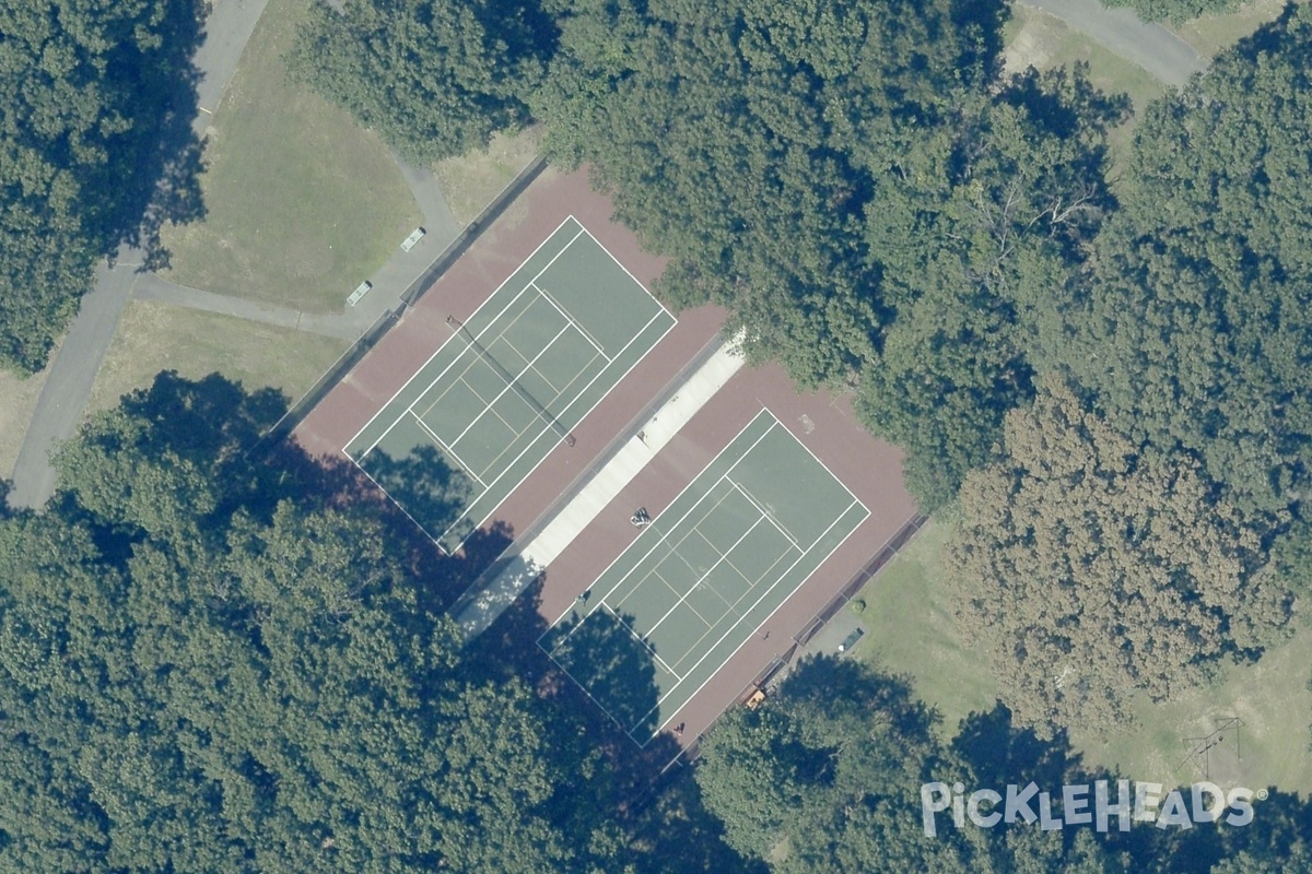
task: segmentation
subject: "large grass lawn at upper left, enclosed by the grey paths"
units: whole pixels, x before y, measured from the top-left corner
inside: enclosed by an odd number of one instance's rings
[[[219,105],[202,180],[209,215],[169,228],[167,279],[337,312],[421,224],[388,149],[286,80],[306,0],[269,0]]]

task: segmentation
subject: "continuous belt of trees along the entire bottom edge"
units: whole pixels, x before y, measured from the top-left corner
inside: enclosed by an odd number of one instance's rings
[[[951,828],[930,781],[1105,778],[1006,706],[950,740],[899,677],[802,663],[693,769],[639,751],[534,646],[445,609],[505,545],[440,556],[346,465],[260,435],[274,392],[155,384],[0,515],[0,867],[24,871],[1286,871],[1312,803],[1242,828]],[[1294,869],[1288,867],[1294,866]]]

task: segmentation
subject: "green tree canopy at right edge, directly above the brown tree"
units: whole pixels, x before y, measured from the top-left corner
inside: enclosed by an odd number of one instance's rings
[[[1039,355],[1273,516],[1312,487],[1309,58],[1312,10],[1290,7],[1148,106],[1092,279]]]

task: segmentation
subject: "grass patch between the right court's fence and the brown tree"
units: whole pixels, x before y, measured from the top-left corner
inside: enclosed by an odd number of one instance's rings
[[[909,675],[916,693],[942,714],[945,736],[997,698],[984,654],[962,646],[956,634],[951,588],[941,570],[950,529],[947,515],[932,519],[848,605],[866,629],[854,655]]]

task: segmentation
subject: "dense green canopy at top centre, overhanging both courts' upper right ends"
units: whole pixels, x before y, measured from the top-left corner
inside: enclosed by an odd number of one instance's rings
[[[803,385],[861,387],[924,508],[1029,396],[1023,317],[1111,206],[1124,104],[1081,71],[1000,85],[1002,16],[580,0],[534,104],[548,149],[672,257],[669,296],[728,307]]]

